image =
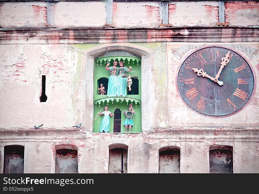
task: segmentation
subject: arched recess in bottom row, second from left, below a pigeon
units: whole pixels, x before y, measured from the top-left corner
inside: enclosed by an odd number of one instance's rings
[[[58,149],[56,151],[55,173],[78,173],[76,150]]]

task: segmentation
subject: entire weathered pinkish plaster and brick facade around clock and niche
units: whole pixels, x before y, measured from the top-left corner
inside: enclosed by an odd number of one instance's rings
[[[129,173],[157,173],[159,149],[165,146],[180,148],[180,172],[208,173],[209,147],[230,145],[233,146],[234,173],[258,173],[258,89],[248,106],[238,114],[211,119],[190,111],[180,100],[175,83],[180,61],[193,49],[209,45],[204,38],[210,39],[209,42],[216,40],[217,43],[211,44],[242,53],[248,58],[258,82],[258,43],[255,41],[258,30],[254,28],[259,24],[258,2],[225,3],[225,19],[230,26],[252,28],[214,29],[215,36],[208,35],[207,28],[199,31],[199,27],[211,27],[219,22],[217,1],[170,2],[169,23],[183,28],[167,31],[153,29],[161,27],[162,23],[158,2],[114,2],[111,8],[106,6],[104,1],[56,2],[49,13],[51,17],[47,18],[46,2],[1,3],[0,26],[4,28],[0,45],[1,164],[4,146],[24,145],[25,173],[54,173],[56,149],[75,149],[78,151],[79,172],[107,173],[109,145],[118,143],[129,146]],[[128,32],[128,29],[113,30],[107,26],[106,9],[112,9],[113,27],[137,28],[133,30],[139,33]],[[58,29],[45,30],[48,27]],[[187,27],[197,27],[197,31]],[[8,28],[41,28],[42,31],[28,30],[24,36],[23,32],[6,32]],[[70,28],[87,30],[74,34]],[[92,28],[98,28],[95,31],[98,31],[95,36],[98,40],[93,38]],[[105,31],[101,32],[101,28]],[[149,29],[141,31],[143,29],[138,28]],[[251,32],[246,31],[251,29]],[[248,36],[243,37],[243,32]],[[190,39],[182,39],[183,43],[172,43],[175,37],[187,35]],[[126,43],[130,42],[128,40],[134,44]],[[89,42],[101,45],[82,45]],[[143,56],[141,84],[148,90],[142,92],[148,95],[142,96],[140,134],[89,132],[93,123],[94,57],[103,54],[105,47],[109,46],[102,43],[113,42],[113,50],[123,48]],[[80,45],[72,48],[68,45],[70,43]],[[41,103],[42,75],[46,75],[48,100]],[[84,128],[71,128],[81,121]],[[33,128],[41,123],[43,128]],[[232,128],[233,124],[235,128]],[[186,128],[181,128],[184,125]],[[213,128],[219,125],[227,127]],[[0,172],[3,172],[2,167],[0,165]]]

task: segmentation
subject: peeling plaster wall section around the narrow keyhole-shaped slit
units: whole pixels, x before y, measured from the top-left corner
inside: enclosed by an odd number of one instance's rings
[[[70,95],[77,63],[68,60],[67,45],[1,45],[0,55],[0,128],[75,124]],[[42,75],[47,102],[40,102]]]

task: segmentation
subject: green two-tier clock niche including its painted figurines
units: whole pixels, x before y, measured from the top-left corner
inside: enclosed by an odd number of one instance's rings
[[[107,56],[108,54],[108,56]],[[106,77],[109,79],[106,95],[94,94],[94,116],[98,112],[104,111],[104,107],[108,107],[108,111],[115,114],[115,110],[121,110],[121,115],[117,115],[116,118],[105,118],[103,116],[97,116],[94,120],[94,132],[107,132],[109,133],[140,133],[141,130],[141,78],[142,78],[142,61],[141,56],[130,53],[124,50],[107,50],[107,53],[94,58],[94,86],[100,85],[100,79]],[[107,60],[110,63],[107,65]],[[123,66],[120,65],[123,64]],[[113,65],[116,66],[113,66]],[[132,69],[131,69],[132,68]],[[130,71],[131,70],[131,71]],[[98,88],[97,88],[98,89]],[[95,90],[95,88],[94,88]],[[132,105],[135,115],[133,114],[130,119],[133,123],[131,127],[126,125],[127,114],[124,115],[124,111],[129,110],[129,106]],[[114,126],[118,124],[118,118],[120,117],[120,126]],[[104,129],[104,120],[107,124],[107,128]],[[128,126],[128,127],[127,127]],[[102,128],[102,129],[101,129]],[[120,128],[120,130],[117,130]]]

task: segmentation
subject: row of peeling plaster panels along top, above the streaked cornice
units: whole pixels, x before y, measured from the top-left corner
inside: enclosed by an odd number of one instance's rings
[[[3,28],[159,28],[159,2],[4,2],[0,6]],[[168,19],[173,27],[210,27],[219,22],[217,1],[169,2]],[[47,13],[48,12],[48,13]],[[111,13],[111,14],[109,14]],[[230,26],[258,26],[258,2],[226,2],[225,20]],[[47,18],[48,16],[48,18]],[[106,21],[111,20],[107,24]]]

